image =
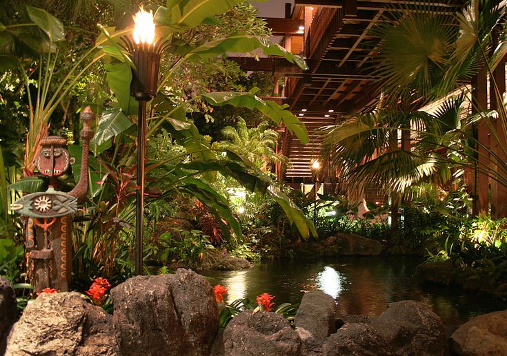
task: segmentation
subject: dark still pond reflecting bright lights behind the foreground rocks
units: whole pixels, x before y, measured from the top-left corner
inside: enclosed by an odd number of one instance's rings
[[[275,307],[297,303],[303,291],[319,290],[332,295],[337,311],[375,316],[391,302],[417,300],[433,306],[447,326],[471,317],[507,308],[484,295],[456,287],[421,283],[413,277],[419,258],[339,257],[317,261],[275,260],[258,262],[243,271],[202,271],[212,284],[228,290],[227,302],[242,297],[255,300],[260,293],[275,295]]]

